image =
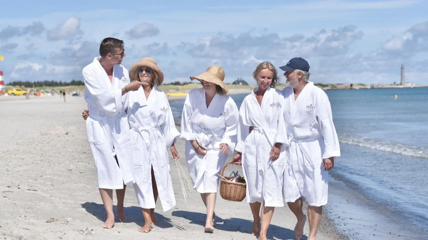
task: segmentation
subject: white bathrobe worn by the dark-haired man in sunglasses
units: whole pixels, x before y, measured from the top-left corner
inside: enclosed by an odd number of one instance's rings
[[[122,65],[114,65],[110,83],[98,59],[82,71],[89,111],[86,132],[97,168],[98,187],[123,189],[124,183],[134,181],[131,137],[125,112],[128,94],[122,96],[122,88],[129,84],[129,74]]]

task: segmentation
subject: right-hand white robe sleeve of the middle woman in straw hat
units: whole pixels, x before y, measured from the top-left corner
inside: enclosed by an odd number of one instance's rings
[[[229,102],[230,101],[230,102]],[[232,98],[229,99],[229,101],[226,103],[229,105],[229,111],[226,115],[225,119],[225,127],[226,130],[224,131],[223,138],[221,140],[221,143],[226,143],[229,147],[229,153],[233,153],[235,151],[236,146],[236,134],[237,134],[237,128],[238,128],[238,107],[236,106],[236,103],[232,100]]]

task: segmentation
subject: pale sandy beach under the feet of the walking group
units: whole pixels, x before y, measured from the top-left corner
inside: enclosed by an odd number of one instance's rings
[[[85,108],[83,97],[67,96],[67,102],[57,96],[0,97],[0,239],[256,239],[251,235],[249,205],[226,201],[220,194],[215,231],[204,233],[205,207],[196,191],[187,190],[184,201],[174,160],[170,164],[177,204],[163,212],[158,202],[159,224],[149,234],[138,232],[144,220],[132,185],[125,196],[127,222],[101,228],[107,216],[81,117]],[[179,162],[187,170],[184,141],[176,146],[182,156]],[[227,172],[232,170],[241,172],[237,166]],[[294,225],[288,207],[276,208],[268,238],[294,239]],[[308,223],[304,234],[309,234]],[[338,234],[324,213],[317,239],[347,238]]]

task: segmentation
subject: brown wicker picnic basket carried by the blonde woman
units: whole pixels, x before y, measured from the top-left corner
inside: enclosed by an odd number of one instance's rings
[[[220,177],[220,196],[225,200],[229,200],[233,202],[242,202],[242,200],[244,200],[245,198],[247,184],[241,183],[241,182],[229,181],[229,177],[224,176],[224,170],[230,164],[232,163],[229,162],[226,165],[224,165],[223,170],[221,171],[221,176],[223,177]],[[245,180],[247,181],[247,179]]]

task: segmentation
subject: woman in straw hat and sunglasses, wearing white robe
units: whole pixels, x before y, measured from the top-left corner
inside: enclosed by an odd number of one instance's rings
[[[163,91],[163,72],[154,59],[143,58],[129,70],[131,81],[149,85],[129,92],[128,122],[131,126],[131,143],[134,155],[134,190],[142,208],[145,225],[140,232],[149,232],[157,224],[155,204],[158,196],[163,211],[175,206],[174,190],[167,147],[178,159],[174,143],[180,133],[175,128],[172,111]]]

